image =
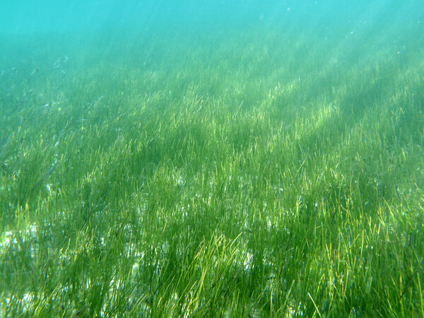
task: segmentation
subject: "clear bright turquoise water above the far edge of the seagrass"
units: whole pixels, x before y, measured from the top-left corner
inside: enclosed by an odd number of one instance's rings
[[[369,42],[368,36],[377,33],[380,37],[390,34],[391,41],[402,37],[422,41],[420,1],[4,0],[0,6],[1,35],[15,39],[31,34],[73,33],[84,37],[93,32],[110,33],[106,37],[120,30],[142,35],[175,28],[213,33],[271,25],[294,35],[309,32],[325,37],[336,33],[338,40],[356,33],[353,40],[360,37],[362,42]],[[398,45],[400,49],[402,44]]]

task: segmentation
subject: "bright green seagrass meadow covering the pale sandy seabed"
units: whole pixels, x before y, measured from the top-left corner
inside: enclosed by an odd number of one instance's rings
[[[422,58],[312,38],[4,66],[1,315],[424,314]]]

